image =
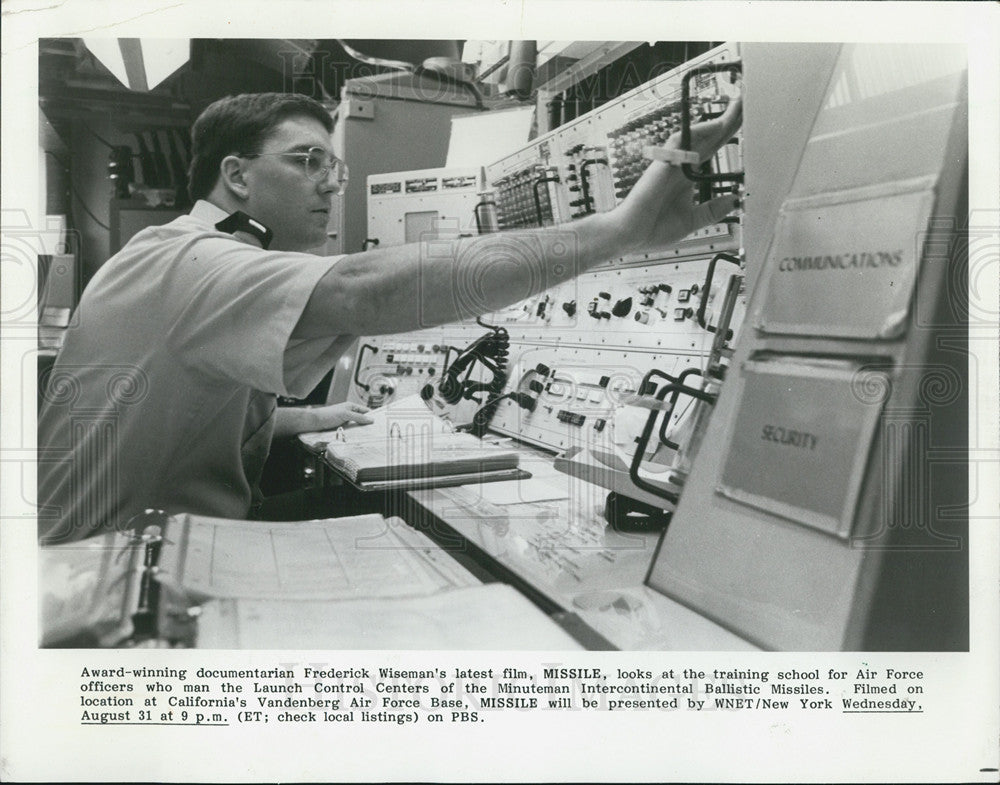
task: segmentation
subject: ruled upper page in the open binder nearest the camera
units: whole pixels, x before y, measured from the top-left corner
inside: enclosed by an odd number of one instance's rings
[[[341,599],[454,585],[381,515],[274,523],[178,516],[161,582],[192,598]]]

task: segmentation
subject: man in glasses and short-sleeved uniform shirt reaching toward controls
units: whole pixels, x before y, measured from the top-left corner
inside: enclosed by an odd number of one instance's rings
[[[692,149],[704,160],[739,122],[734,101],[695,126]],[[39,419],[43,541],[121,528],[146,508],[254,517],[275,436],[367,419],[350,404],[276,407],[278,395],[308,394],[352,336],[504,307],[735,206],[731,196],[693,205],[679,167],[655,161],[619,207],[571,225],[463,239],[451,256],[422,257],[411,244],[321,257],[307,251],[325,241],[331,194],[346,180],[332,131],[322,105],[294,94],[225,98],[199,117],[194,208],[140,232],[100,269],[50,375]],[[571,269],[546,281],[553,260]],[[461,280],[481,283],[485,301],[463,303]]]

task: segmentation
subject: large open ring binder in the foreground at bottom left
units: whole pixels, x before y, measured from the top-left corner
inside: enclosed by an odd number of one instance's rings
[[[43,647],[579,648],[515,590],[381,515],[150,511],[128,533],[42,546],[39,577]]]

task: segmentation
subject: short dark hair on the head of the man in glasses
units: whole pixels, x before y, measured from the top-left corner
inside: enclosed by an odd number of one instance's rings
[[[314,117],[333,131],[330,112],[318,101],[297,93],[245,93],[211,104],[191,129],[188,193],[204,199],[215,187],[219,164],[227,155],[255,153],[268,135],[289,117]]]

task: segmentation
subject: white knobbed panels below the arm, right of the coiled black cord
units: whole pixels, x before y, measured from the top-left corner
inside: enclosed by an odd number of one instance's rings
[[[745,298],[730,258],[602,270],[486,317],[510,334],[509,389],[534,402],[502,401],[491,428],[552,450],[610,440],[631,456],[645,421],[633,401],[656,392],[643,377],[705,370],[730,285],[739,297],[726,338],[738,331]]]

